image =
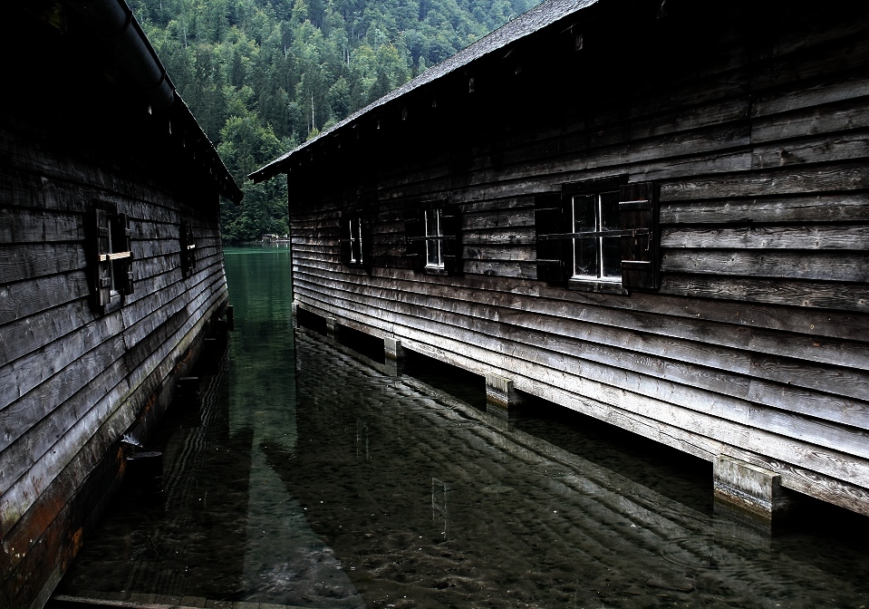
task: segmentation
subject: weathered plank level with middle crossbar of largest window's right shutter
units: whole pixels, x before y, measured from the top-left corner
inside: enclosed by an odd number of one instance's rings
[[[869,226],[664,228],[661,247],[865,250]]]

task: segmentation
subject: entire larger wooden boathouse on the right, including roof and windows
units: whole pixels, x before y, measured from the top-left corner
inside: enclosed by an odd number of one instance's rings
[[[251,175],[299,310],[869,515],[869,5],[549,0]]]

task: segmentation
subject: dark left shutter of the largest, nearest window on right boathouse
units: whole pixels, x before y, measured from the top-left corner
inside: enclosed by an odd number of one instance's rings
[[[570,216],[565,213],[565,199],[561,193],[537,195],[534,198],[534,224],[537,233],[537,279],[550,285],[563,285],[570,266],[569,239],[546,239],[548,235],[570,232]]]

